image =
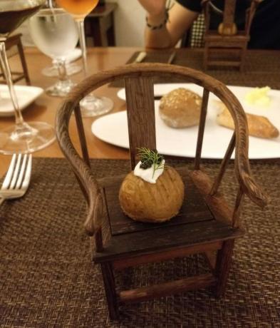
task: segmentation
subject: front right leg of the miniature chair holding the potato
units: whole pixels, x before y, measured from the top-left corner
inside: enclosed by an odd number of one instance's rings
[[[217,277],[217,285],[215,288],[216,297],[224,294],[227,277],[229,276],[230,265],[232,264],[232,252],[234,249],[234,240],[227,240],[224,242],[222,249],[217,252],[217,262],[215,274]]]

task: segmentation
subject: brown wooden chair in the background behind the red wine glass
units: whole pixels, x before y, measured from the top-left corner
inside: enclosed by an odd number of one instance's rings
[[[25,56],[24,56],[24,48],[22,46],[21,43],[21,34],[15,34],[13,36],[10,36],[8,39],[6,39],[5,41],[5,46],[6,46],[6,51],[8,51],[12,46],[16,46],[18,53],[19,53],[19,58],[21,58],[21,66],[22,66],[22,72],[11,72],[11,76],[12,76],[12,80],[13,83],[16,83],[18,81],[21,81],[22,79],[25,79],[26,84],[28,86],[31,85],[30,82],[30,78],[28,75],[28,69],[27,69],[27,65],[26,65],[26,60],[25,60]],[[0,66],[1,68],[1,66]],[[0,71],[0,77],[4,78],[4,73],[2,73],[2,68]],[[0,80],[0,83],[2,84],[6,84],[5,79]]]

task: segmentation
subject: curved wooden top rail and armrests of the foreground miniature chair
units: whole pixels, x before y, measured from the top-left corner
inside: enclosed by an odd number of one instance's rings
[[[234,120],[234,130],[236,133],[235,170],[239,184],[241,185],[242,190],[244,190],[244,193],[246,193],[257,205],[263,207],[266,203],[268,203],[268,198],[263,193],[261,188],[256,185],[254,179],[252,178],[248,159],[249,134],[247,118],[236,96],[229,91],[229,88],[227,88],[224,83],[212,78],[211,76],[207,76],[201,71],[176,65],[170,66],[162,63],[129,64],[113,68],[110,71],[100,71],[95,73],[93,76],[85,78],[79,86],[73,89],[71,95],[68,96],[66,102],[58,111],[56,118],[56,133],[61,143],[61,149],[66,157],[71,161],[78,177],[81,181],[83,181],[83,185],[85,186],[86,193],[88,193],[90,202],[98,199],[100,190],[98,188],[98,183],[95,178],[93,178],[92,173],[90,173],[88,166],[83,163],[83,160],[81,160],[80,156],[71,144],[71,140],[68,135],[68,123],[70,116],[73,109],[78,106],[79,101],[91,91],[94,91],[96,88],[99,88],[106,83],[113,82],[120,78],[130,78],[132,76],[134,78],[137,78],[138,76],[146,76],[150,78],[153,78],[154,76],[164,76],[165,78],[174,78],[177,76],[179,78],[184,78],[185,81],[196,83],[197,85],[206,88],[208,91],[214,93],[214,95],[216,95],[221,101],[223,101]],[[90,221],[90,218],[86,220],[86,228],[89,233],[93,233],[99,227],[99,223],[96,221],[97,218],[94,214],[94,206],[97,205],[93,202],[90,205],[91,212],[89,213],[89,215],[92,215],[93,221]],[[89,222],[93,222],[92,226],[90,226]]]

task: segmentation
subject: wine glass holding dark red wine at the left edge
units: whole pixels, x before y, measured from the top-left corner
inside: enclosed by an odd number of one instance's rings
[[[0,131],[0,153],[33,153],[56,139],[53,127],[45,122],[26,123],[16,98],[5,41],[14,29],[33,15],[45,0],[0,0],[0,63],[15,110],[16,124]]]

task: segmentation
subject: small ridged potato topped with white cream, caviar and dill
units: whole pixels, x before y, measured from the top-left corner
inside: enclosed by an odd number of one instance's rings
[[[184,199],[184,183],[174,168],[155,150],[141,148],[140,162],[120,186],[120,206],[130,218],[142,222],[164,222],[175,217]],[[151,154],[152,153],[152,154]]]

